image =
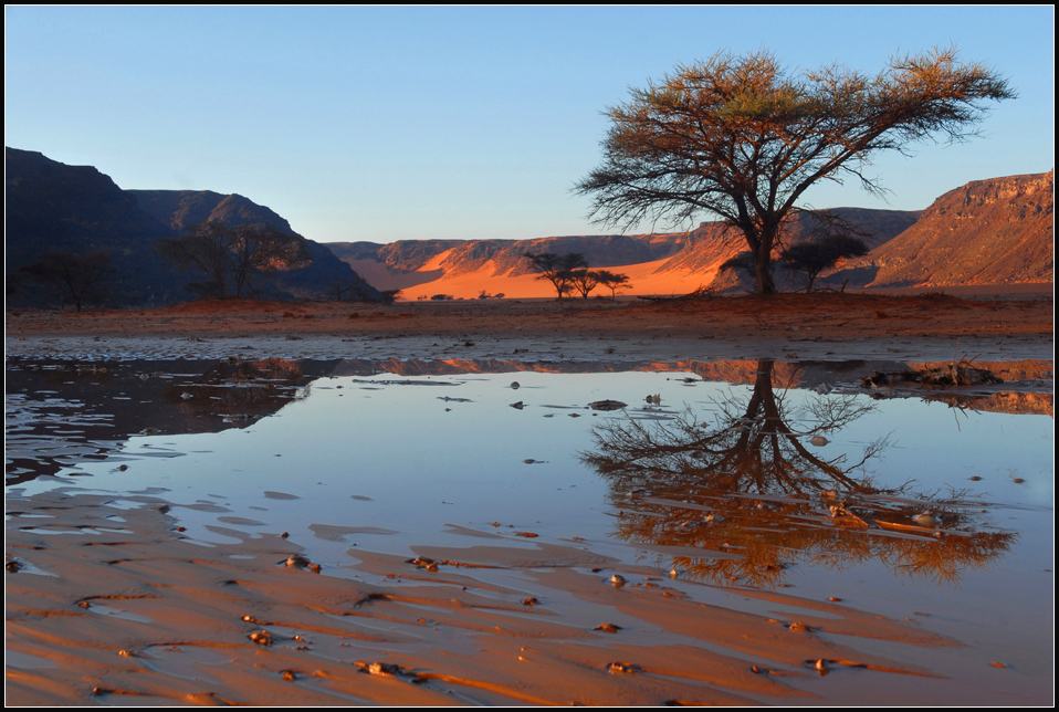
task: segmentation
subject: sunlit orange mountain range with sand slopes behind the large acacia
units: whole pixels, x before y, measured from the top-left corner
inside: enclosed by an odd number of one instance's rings
[[[871,252],[839,263],[817,285],[946,286],[1055,281],[1055,170],[967,184],[925,211],[835,208],[829,210],[868,242]],[[808,214],[791,220],[786,240],[796,243],[818,227]],[[628,274],[631,293],[677,294],[698,286],[749,290],[737,272],[719,272],[745,249],[738,235],[703,222],[689,232],[641,235],[572,235],[536,240],[415,240],[390,244],[328,243],[328,248],[380,289],[401,289],[406,299],[482,292],[508,297],[554,296],[528,272],[526,252],[581,252],[594,269]],[[742,280],[742,281],[741,281]],[[784,290],[804,276],[777,265]]]

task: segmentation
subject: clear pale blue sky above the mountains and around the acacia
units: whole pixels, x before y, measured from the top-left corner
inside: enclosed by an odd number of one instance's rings
[[[951,44],[1019,93],[985,137],[877,159],[888,202],[807,196],[916,210],[1055,166],[1052,6],[8,6],[4,143],[122,188],[238,192],[321,242],[609,233],[570,188],[629,86],[721,50],[874,74]]]

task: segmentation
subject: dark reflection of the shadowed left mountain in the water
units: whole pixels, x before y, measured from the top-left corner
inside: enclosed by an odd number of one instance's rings
[[[137,434],[245,428],[298,397],[333,363],[284,359],[8,363],[6,482],[103,460]]]

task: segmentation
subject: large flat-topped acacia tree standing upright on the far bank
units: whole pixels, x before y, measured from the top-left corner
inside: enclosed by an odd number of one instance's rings
[[[762,294],[776,291],[773,252],[803,193],[864,175],[882,150],[976,135],[988,102],[1014,98],[997,72],[961,63],[954,48],[893,57],[877,76],[837,64],[788,73],[768,52],[720,53],[610,107],[602,164],[575,186],[597,223],[679,224],[717,216],[745,241]]]

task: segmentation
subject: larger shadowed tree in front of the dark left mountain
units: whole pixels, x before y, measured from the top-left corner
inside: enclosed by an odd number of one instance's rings
[[[203,222],[180,238],[158,242],[158,252],[181,270],[197,269],[205,282],[189,286],[205,295],[240,297],[253,289],[255,274],[300,266],[310,261],[297,235],[264,224],[232,227]]]

